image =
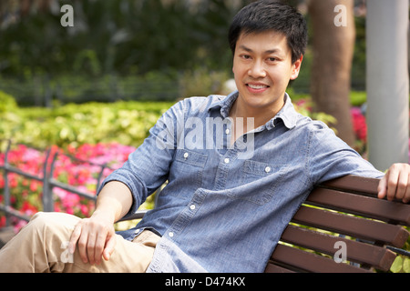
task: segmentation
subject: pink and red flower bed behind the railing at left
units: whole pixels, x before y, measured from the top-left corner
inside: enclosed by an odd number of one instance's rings
[[[122,146],[118,143],[85,144],[74,148],[68,146],[64,153],[60,148],[52,148],[52,156],[60,151],[56,158],[53,177],[69,186],[75,186],[77,190],[89,195],[96,194],[97,178],[101,172],[101,166],[106,165],[101,179],[108,176],[114,169],[121,166],[128,155],[135,150],[132,146]],[[8,153],[8,163],[25,173],[43,177],[43,167],[46,161],[46,152],[36,150],[25,145],[16,145]],[[5,154],[0,154],[0,165],[4,165]],[[100,165],[100,166],[98,166]],[[48,163],[48,169],[50,162]],[[42,210],[41,196],[43,183],[15,173],[8,174],[8,183],[11,191],[11,206],[18,209],[26,216],[32,216]],[[5,187],[4,176],[0,176],[0,189]],[[58,212],[86,217],[94,210],[94,202],[70,193],[64,189],[53,188],[54,207]],[[3,203],[0,196],[0,203]],[[25,221],[14,219],[13,226],[18,231],[26,225]],[[0,216],[0,227],[5,226],[5,216]]]

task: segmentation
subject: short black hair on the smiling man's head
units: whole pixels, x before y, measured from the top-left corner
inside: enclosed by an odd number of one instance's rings
[[[267,30],[286,36],[292,50],[292,64],[304,55],[308,41],[304,17],[292,6],[272,0],[252,2],[233,18],[229,32],[232,53],[235,53],[242,32],[251,34]]]

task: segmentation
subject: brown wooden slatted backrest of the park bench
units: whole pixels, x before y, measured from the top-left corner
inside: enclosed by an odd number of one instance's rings
[[[388,271],[396,255],[386,246],[405,246],[410,205],[378,199],[378,183],[343,176],[315,187],[265,272]]]

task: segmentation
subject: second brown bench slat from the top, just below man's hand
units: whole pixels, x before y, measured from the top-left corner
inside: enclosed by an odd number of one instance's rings
[[[354,215],[366,216],[410,226],[410,205],[333,189],[316,188],[307,199],[309,204],[325,206]]]

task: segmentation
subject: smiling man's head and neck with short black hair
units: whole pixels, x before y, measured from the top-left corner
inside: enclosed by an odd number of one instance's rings
[[[299,75],[306,23],[291,6],[260,0],[235,16],[230,42],[239,91],[233,109],[236,115],[258,116],[263,124],[281,110],[289,82]]]

